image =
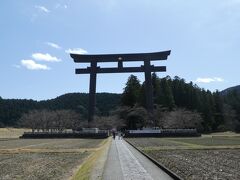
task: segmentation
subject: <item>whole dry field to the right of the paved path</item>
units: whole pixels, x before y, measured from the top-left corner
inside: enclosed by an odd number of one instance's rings
[[[129,138],[128,141],[183,179],[240,179],[240,136]]]

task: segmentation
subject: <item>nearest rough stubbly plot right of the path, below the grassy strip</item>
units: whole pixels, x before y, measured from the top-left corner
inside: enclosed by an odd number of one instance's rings
[[[145,151],[183,179],[240,179],[240,151]]]

